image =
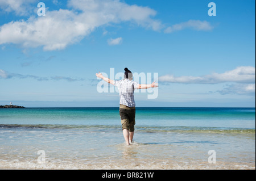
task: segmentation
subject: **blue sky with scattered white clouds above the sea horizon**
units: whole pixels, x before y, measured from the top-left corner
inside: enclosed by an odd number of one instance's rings
[[[137,107],[255,107],[255,1],[209,2],[0,0],[0,104],[118,107],[95,74],[127,67],[159,76]]]

